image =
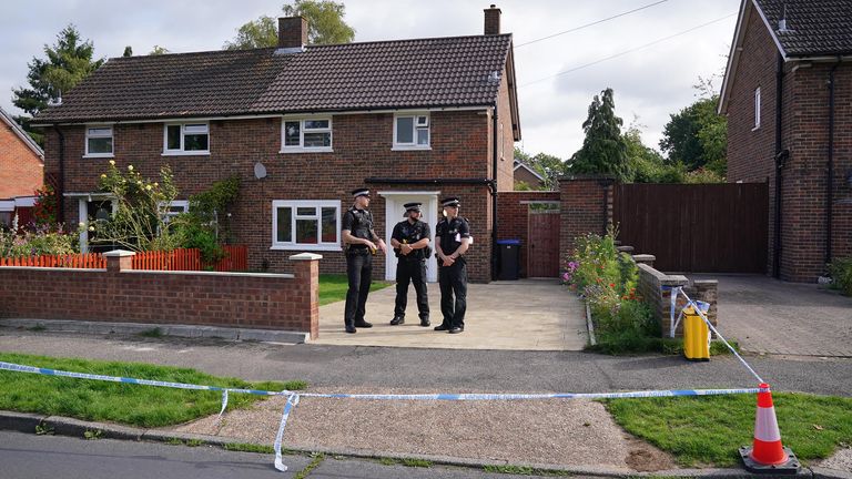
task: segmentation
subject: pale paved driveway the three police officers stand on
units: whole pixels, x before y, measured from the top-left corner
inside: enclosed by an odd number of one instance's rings
[[[586,345],[582,303],[556,279],[523,279],[470,284],[465,332],[450,335],[420,327],[414,287],[408,288],[406,323],[390,326],[395,288],[369,293],[369,329],[343,330],[345,302],[320,308],[318,345],[392,346],[450,349],[580,350]],[[440,291],[429,283],[432,326],[440,324]]]

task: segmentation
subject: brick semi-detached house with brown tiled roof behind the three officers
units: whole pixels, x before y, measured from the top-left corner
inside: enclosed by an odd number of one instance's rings
[[[306,21],[283,18],[277,48],[111,59],[36,119],[64,221],[109,201],[98,192],[109,160],[151,179],[170,165],[178,207],[236,174],[230,221],[251,268],[282,272],[290,255],[317,252],[322,272],[339,273],[351,190],[371,187],[388,242],[404,203],[423,202],[434,231],[438,198],[457,195],[475,238],[468,274],[488,282],[496,195],[513,190],[520,139],[499,20],[491,7],[483,35],[306,45]],[[393,279],[393,254],[377,259],[375,276]],[[436,269],[433,257],[432,281]]]

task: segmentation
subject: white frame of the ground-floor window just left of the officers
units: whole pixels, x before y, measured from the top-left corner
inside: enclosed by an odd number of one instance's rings
[[[278,208],[291,208],[291,234],[290,242],[278,241]],[[315,208],[314,215],[300,215],[297,214],[300,207],[313,207]],[[323,242],[323,208],[335,210],[335,241]],[[341,251],[341,220],[342,220],[342,205],[339,200],[273,200],[272,202],[272,247],[270,249],[297,249],[297,251]],[[297,220],[316,220],[316,243],[296,243],[296,221]]]

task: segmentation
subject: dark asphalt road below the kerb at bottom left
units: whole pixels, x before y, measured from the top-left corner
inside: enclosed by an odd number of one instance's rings
[[[0,431],[0,465],[3,478],[14,479],[260,479],[292,478],[312,458],[285,456],[287,472],[273,468],[272,455],[231,452],[201,446],[168,446],[153,442],[84,440]],[[324,458],[306,476],[312,479],[342,478],[439,478],[511,479],[530,476],[487,473],[477,469],[432,466],[410,468],[384,466],[376,460]]]

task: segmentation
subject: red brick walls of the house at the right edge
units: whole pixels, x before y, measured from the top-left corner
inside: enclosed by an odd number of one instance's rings
[[[728,181],[769,180],[769,268],[774,238],[775,62],[778,50],[757,14],[744,31],[728,109]],[[790,152],[781,193],[780,277],[814,282],[825,272],[829,71],[832,63],[787,62],[782,149]],[[753,129],[753,91],[761,86],[761,126]],[[835,71],[832,256],[852,255],[852,65]]]

